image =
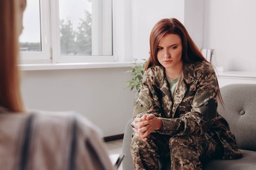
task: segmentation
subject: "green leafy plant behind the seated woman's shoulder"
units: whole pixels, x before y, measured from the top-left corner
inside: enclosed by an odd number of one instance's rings
[[[142,82],[142,76],[144,74],[144,69],[146,66],[146,59],[143,59],[144,63],[138,63],[138,59],[134,59],[135,62],[132,64],[131,70],[127,73],[131,73],[131,80],[126,82],[126,87],[130,90],[136,90],[137,93],[140,92],[140,84]]]

